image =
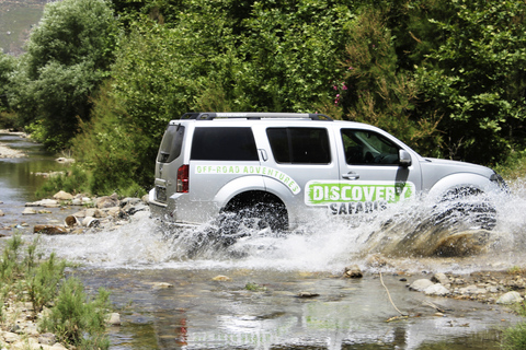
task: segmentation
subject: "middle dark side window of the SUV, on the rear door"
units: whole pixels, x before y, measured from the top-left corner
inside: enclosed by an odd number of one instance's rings
[[[331,163],[329,136],[324,128],[268,128],[266,136],[277,163]]]

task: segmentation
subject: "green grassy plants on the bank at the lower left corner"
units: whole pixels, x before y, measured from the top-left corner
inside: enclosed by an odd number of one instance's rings
[[[42,260],[37,244],[36,238],[23,250],[20,234],[7,240],[0,260],[0,305],[31,302],[35,315],[48,307],[38,324],[39,331],[53,332],[62,345],[78,349],[108,349],[105,317],[111,310],[110,293],[100,289],[95,298],[88,298],[80,280],[65,278],[67,262],[55,254]],[[10,327],[11,316],[0,306],[4,330]]]

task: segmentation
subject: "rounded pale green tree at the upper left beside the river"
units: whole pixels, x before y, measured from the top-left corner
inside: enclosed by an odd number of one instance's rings
[[[46,4],[26,45],[14,82],[12,106],[50,149],[69,145],[78,119],[90,116],[90,96],[107,75],[117,22],[105,0]]]

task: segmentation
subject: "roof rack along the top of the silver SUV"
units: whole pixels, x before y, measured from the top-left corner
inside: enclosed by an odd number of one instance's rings
[[[311,120],[327,120],[333,121],[333,119],[324,114],[312,113],[276,113],[276,112],[196,112],[185,113],[181,116],[181,119],[195,119],[195,120],[214,120],[214,119],[266,119],[266,118],[291,118],[291,119],[311,119]]]

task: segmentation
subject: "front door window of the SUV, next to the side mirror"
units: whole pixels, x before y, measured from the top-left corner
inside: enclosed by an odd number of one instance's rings
[[[342,129],[345,159],[351,165],[398,164],[399,147],[380,133]]]

